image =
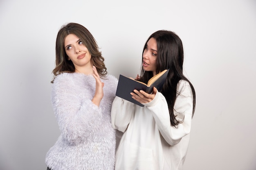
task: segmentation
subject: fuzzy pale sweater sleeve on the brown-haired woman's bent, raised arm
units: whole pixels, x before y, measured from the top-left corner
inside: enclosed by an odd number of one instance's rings
[[[52,86],[52,105],[62,136],[70,144],[84,141],[98,126],[101,109],[76,94],[74,82],[58,78]]]

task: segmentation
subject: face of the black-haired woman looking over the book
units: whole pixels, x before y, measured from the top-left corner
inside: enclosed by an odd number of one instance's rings
[[[155,38],[148,40],[147,46],[143,52],[143,69],[145,71],[152,71],[155,76],[155,61],[157,59],[157,41]]]

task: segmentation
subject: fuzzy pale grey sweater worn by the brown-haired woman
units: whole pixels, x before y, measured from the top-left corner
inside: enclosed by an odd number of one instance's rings
[[[95,79],[92,75],[63,73],[52,85],[52,106],[61,131],[46,155],[52,170],[113,170],[115,130],[110,111],[117,78],[108,75],[100,106],[92,103]]]

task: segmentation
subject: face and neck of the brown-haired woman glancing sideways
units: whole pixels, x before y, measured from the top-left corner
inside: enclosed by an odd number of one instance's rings
[[[91,58],[89,50],[83,45],[82,41],[74,34],[69,34],[64,41],[65,52],[70,59],[76,71],[81,67],[92,68]]]

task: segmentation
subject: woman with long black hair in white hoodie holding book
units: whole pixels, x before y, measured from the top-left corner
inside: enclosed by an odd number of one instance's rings
[[[112,126],[124,132],[116,152],[116,170],[182,170],[195,111],[195,90],[183,74],[183,46],[171,31],[150,35],[143,49],[141,75],[147,83],[170,69],[160,92],[136,89],[132,98],[144,107],[116,97]]]

